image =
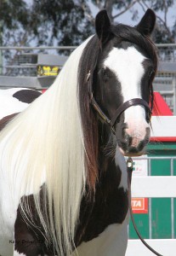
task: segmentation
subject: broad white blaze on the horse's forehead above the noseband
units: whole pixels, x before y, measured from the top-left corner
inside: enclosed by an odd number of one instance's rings
[[[113,48],[107,55],[104,66],[115,73],[116,79],[121,84],[121,94],[124,101],[141,97],[145,59],[145,56],[133,46],[127,49]]]

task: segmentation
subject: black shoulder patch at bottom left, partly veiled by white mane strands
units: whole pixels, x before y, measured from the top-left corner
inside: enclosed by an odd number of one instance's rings
[[[41,199],[43,198],[43,189],[44,185],[40,190]],[[18,253],[24,253],[26,256],[54,256],[52,247],[47,247],[45,244],[43,236],[45,232],[37,215],[33,195],[23,196],[21,203],[23,204],[26,201],[31,210],[31,216],[29,217],[29,223],[26,223],[20,207],[18,207],[14,224],[14,250]]]

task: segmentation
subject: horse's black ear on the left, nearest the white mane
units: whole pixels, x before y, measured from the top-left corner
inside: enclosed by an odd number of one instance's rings
[[[99,41],[105,43],[111,34],[111,22],[105,9],[101,10],[95,18],[95,30]]]

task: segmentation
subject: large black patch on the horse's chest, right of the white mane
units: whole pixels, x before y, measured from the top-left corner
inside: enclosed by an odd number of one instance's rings
[[[128,212],[128,191],[118,188],[120,181],[121,172],[109,170],[99,180],[94,199],[83,198],[77,245],[99,236],[111,224],[122,224]]]

